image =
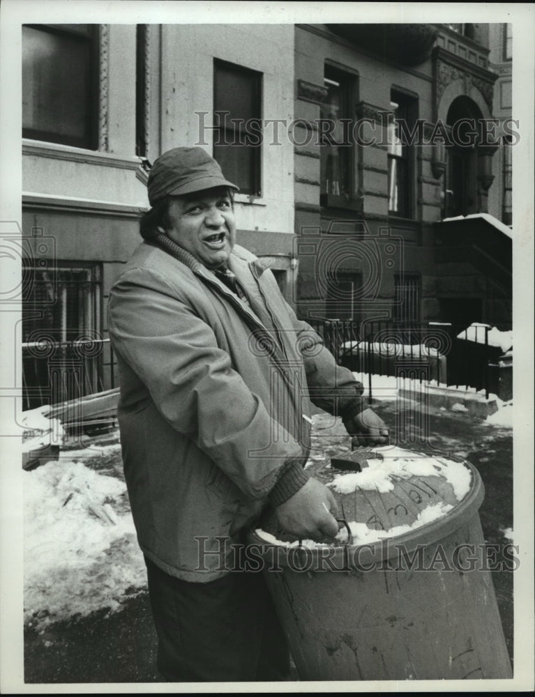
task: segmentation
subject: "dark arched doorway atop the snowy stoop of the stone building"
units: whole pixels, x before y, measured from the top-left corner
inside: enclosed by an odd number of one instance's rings
[[[447,148],[445,217],[479,212],[477,133],[481,119],[483,114],[469,97],[451,102],[446,117],[453,144]]]

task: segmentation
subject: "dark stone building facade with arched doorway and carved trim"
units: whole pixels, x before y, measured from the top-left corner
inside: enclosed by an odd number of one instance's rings
[[[296,117],[315,129],[296,148],[303,314],[510,326],[495,30],[296,26]]]

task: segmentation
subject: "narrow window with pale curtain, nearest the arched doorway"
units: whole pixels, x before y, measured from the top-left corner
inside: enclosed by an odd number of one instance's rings
[[[416,122],[416,100],[392,91],[388,134],[389,213],[412,216],[413,153],[409,133]]]

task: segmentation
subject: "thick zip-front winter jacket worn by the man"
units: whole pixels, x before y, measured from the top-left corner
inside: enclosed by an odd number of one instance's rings
[[[110,291],[137,537],[187,581],[227,572],[218,538],[232,555],[285,460],[306,460],[310,399],[332,412],[333,395],[362,393],[253,254],[236,245],[229,268],[248,302],[187,252],[144,242]]]

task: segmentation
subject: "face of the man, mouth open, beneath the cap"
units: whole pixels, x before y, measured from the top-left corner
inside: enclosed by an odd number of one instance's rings
[[[227,261],[236,242],[236,223],[225,187],[174,197],[167,216],[169,237],[206,268],[218,268]]]

